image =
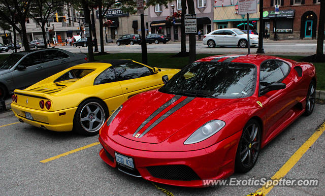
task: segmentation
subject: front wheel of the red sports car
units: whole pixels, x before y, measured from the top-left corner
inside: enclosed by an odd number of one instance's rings
[[[236,153],[236,172],[245,173],[254,167],[261,149],[261,132],[261,126],[255,119],[250,119],[244,126]]]

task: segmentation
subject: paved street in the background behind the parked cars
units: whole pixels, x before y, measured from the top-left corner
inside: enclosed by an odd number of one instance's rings
[[[315,40],[292,40],[292,41],[265,41],[264,50],[266,54],[270,55],[302,55],[308,56],[315,54],[316,52],[316,42]],[[76,47],[73,46],[56,46],[63,50],[68,50],[70,52],[87,53],[87,47]],[[189,45],[186,44],[186,50],[188,51]],[[167,44],[147,44],[147,50],[149,53],[178,53],[180,52],[181,45],[180,42],[168,42]],[[100,50],[100,46],[99,46]],[[251,48],[251,53],[256,53],[257,47]],[[19,50],[21,51],[21,50]],[[117,46],[115,43],[105,44],[105,52],[108,53],[141,53],[141,45],[135,44],[131,45],[120,45]],[[216,47],[208,48],[207,45],[203,45],[202,41],[197,41],[196,44],[197,53],[207,53],[207,54],[245,54],[247,53],[247,48],[238,47]],[[1,54],[10,54],[12,51],[3,52]]]

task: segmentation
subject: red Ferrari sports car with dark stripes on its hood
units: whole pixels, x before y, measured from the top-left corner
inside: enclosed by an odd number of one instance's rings
[[[259,151],[315,106],[313,64],[211,56],[123,103],[101,130],[102,159],[153,182],[200,187],[247,172]]]

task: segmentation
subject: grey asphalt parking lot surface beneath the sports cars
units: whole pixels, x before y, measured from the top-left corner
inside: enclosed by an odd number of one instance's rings
[[[320,134],[325,126],[318,127],[324,120],[325,105],[316,105],[312,115],[298,118],[261,151],[251,171],[231,178],[270,179],[282,175],[288,179],[318,179],[315,187],[275,186],[267,190],[268,195],[323,195],[325,134]],[[152,184],[106,165],[99,156],[102,147],[98,136],[36,128],[18,122],[11,111],[0,113],[0,137],[0,195],[247,195],[262,188],[259,185],[183,188]],[[307,147],[303,145],[305,142]]]

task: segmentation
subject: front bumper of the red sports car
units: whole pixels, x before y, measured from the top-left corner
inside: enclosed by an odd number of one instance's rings
[[[122,146],[107,135],[99,141],[105,149],[101,158],[111,167],[153,182],[202,187],[203,179],[225,179],[234,173],[235,156],[242,131],[208,148],[194,151],[156,152]],[[135,171],[117,166],[115,152],[132,157]],[[178,179],[179,178],[179,179]]]

